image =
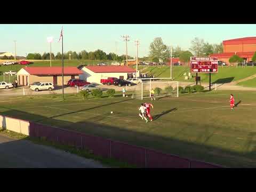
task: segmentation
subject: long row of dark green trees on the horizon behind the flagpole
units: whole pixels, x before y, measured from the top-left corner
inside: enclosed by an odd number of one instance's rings
[[[63,53],[63,59],[82,59],[82,60],[112,60],[112,61],[123,61],[126,59],[126,55],[117,55],[115,53],[105,53],[102,50],[96,50],[96,51],[90,51],[87,52],[85,50],[77,53],[76,51],[68,51]],[[62,54],[58,52],[56,55],[52,53],[51,55],[52,60],[61,60]],[[42,55],[40,53],[29,53],[26,57],[28,60],[49,60],[50,59],[50,53],[44,52]],[[128,59],[133,59],[128,55]]]

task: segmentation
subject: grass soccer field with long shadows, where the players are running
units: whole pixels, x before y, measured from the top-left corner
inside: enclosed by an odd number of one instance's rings
[[[82,100],[75,94],[12,97],[0,101],[0,114],[99,135],[165,153],[228,167],[256,166],[256,93],[230,91],[180,94],[156,101],[146,123],[141,100],[115,97]],[[110,111],[114,111],[110,114]]]

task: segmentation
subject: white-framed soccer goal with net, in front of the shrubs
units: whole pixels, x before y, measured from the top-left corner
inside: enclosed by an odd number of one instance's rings
[[[140,78],[139,83],[134,87],[133,99],[151,98],[151,90],[154,90],[154,97],[179,97],[179,82],[171,81],[171,78]]]

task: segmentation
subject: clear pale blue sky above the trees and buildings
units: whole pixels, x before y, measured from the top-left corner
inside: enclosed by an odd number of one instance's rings
[[[61,52],[61,43],[58,43],[61,24],[52,25],[0,25],[0,52],[13,52],[17,41],[17,55],[26,56],[26,53],[50,52],[50,45],[46,38],[53,36],[52,52]],[[139,57],[147,56],[149,44],[155,37],[162,37],[168,46],[179,45],[188,49],[193,38],[203,38],[205,42],[220,43],[225,39],[256,36],[256,25],[173,25],[173,24],[63,24],[64,52],[69,50],[95,51],[101,49],[106,53],[117,52],[125,54],[125,42],[121,35],[129,35],[128,54],[134,57],[136,47],[134,41],[138,39]]]

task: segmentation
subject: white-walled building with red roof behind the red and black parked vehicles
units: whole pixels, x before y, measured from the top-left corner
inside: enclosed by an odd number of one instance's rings
[[[136,70],[126,66],[85,66],[81,70],[83,71],[83,79],[85,81],[98,84],[100,84],[100,79],[108,77],[121,79],[136,77]]]

